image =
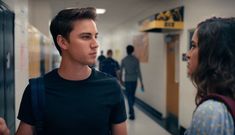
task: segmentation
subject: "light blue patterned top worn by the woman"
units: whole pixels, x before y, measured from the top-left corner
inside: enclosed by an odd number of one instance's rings
[[[196,109],[184,135],[235,135],[233,118],[223,103],[207,100]]]

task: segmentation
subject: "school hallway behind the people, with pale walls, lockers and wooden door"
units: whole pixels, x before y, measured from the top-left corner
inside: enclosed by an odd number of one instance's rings
[[[121,65],[133,45],[140,61],[144,91],[138,80],[135,120],[128,119],[125,100],[128,135],[184,135],[196,108],[185,57],[193,33],[212,15],[234,16],[234,5],[234,0],[0,0],[0,117],[13,135],[29,79],[60,66],[48,28],[52,18],[65,8],[91,6],[106,9],[97,13],[99,47],[92,57],[112,49]]]

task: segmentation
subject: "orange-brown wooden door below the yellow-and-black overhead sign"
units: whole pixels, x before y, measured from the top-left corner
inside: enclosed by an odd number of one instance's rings
[[[178,131],[179,116],[179,35],[166,35],[165,44],[167,46],[166,127],[175,133]]]

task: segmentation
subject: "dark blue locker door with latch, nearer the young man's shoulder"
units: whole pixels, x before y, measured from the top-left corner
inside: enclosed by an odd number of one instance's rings
[[[4,20],[5,119],[13,134],[15,131],[14,14],[5,10]]]

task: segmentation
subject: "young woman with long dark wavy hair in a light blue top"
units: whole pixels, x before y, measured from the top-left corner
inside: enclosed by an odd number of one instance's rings
[[[235,101],[235,19],[198,24],[187,53],[188,75],[197,89],[197,108],[185,135],[234,135],[232,109],[211,95]],[[213,97],[213,96],[212,96]],[[233,104],[234,105],[234,104]]]

